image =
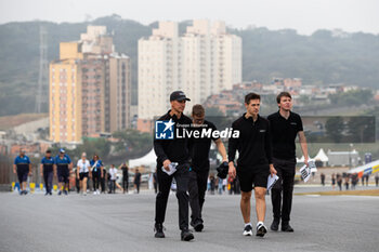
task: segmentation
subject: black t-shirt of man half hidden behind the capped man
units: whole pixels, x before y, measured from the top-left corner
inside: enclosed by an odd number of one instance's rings
[[[193,149],[192,149],[192,165],[195,171],[209,170],[209,149],[211,145],[211,141],[218,140],[219,137],[213,137],[212,133],[215,131],[215,125],[205,120],[202,125],[193,127],[192,131],[198,131],[199,138],[193,138]],[[208,134],[202,134],[205,131]],[[211,137],[208,137],[208,136]]]

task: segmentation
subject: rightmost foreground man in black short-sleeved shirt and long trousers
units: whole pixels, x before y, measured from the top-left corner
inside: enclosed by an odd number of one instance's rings
[[[267,117],[271,125],[273,163],[279,180],[271,191],[273,203],[274,221],[272,230],[278,230],[282,218],[282,230],[293,231],[289,225],[292,207],[292,191],[296,173],[296,145],[295,138],[298,135],[301,150],[304,155],[304,163],[308,165],[306,140],[303,132],[301,117],[291,111],[292,98],[288,92],[282,92],[276,97],[279,110]],[[283,202],[282,202],[283,194]]]

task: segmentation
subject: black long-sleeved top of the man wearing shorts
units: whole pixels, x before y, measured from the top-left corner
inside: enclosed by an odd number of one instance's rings
[[[228,161],[234,161],[239,152],[237,169],[247,170],[272,163],[271,133],[269,120],[258,116],[257,121],[245,114],[233,122],[233,131],[239,131],[239,137],[228,140]]]

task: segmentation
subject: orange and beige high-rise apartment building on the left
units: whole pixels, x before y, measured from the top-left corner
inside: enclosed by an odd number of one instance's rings
[[[50,64],[50,140],[78,143],[130,127],[130,58],[116,53],[103,26],[60,44]]]

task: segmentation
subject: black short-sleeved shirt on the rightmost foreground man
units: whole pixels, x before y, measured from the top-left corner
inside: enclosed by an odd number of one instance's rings
[[[273,141],[273,157],[278,159],[296,158],[295,140],[299,131],[303,131],[301,117],[290,111],[288,119],[274,112],[267,117]]]

